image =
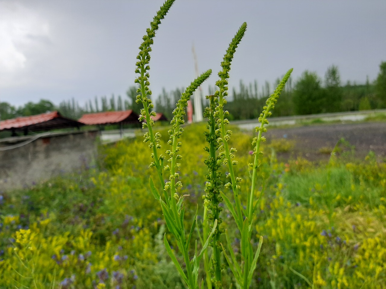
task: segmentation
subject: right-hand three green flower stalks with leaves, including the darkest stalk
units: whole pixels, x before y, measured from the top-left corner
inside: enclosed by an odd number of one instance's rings
[[[207,176],[207,186],[206,186],[206,208],[208,210],[208,220],[217,220],[217,225],[220,225],[222,222],[219,213],[222,208],[219,207],[219,203],[224,200],[227,205],[228,210],[232,213],[234,220],[237,224],[239,231],[241,232],[241,242],[240,242],[240,252],[242,255],[242,262],[239,265],[233,249],[231,247],[231,242],[229,242],[229,236],[222,228],[217,228],[213,234],[213,269],[215,278],[216,288],[221,288],[222,276],[221,276],[221,259],[220,259],[220,246],[222,252],[227,260],[227,263],[232,270],[236,282],[241,288],[249,288],[252,282],[253,272],[256,269],[257,258],[259,257],[259,252],[262,245],[262,237],[259,238],[259,245],[256,252],[253,254],[253,248],[251,245],[251,236],[252,236],[252,227],[254,220],[254,211],[256,209],[257,200],[255,199],[255,186],[256,186],[256,177],[257,177],[257,168],[259,167],[259,155],[262,155],[260,150],[260,143],[264,141],[265,138],[262,136],[262,133],[266,131],[265,125],[268,124],[267,117],[271,115],[271,109],[274,108],[274,105],[284,88],[285,83],[288,81],[289,76],[291,75],[292,69],[290,69],[283,77],[279,85],[275,89],[274,93],[267,99],[266,106],[264,106],[262,113],[259,116],[260,126],[256,127],[257,137],[253,139],[252,146],[254,146],[253,155],[254,163],[250,163],[249,167],[252,170],[251,179],[252,186],[249,192],[249,197],[247,198],[246,210],[242,206],[242,201],[239,195],[240,183],[242,178],[235,176],[233,166],[238,164],[238,161],[235,160],[235,153],[237,150],[235,148],[229,148],[229,140],[232,134],[231,130],[227,130],[226,127],[229,124],[228,119],[226,118],[229,115],[228,111],[224,110],[224,106],[227,103],[225,97],[228,95],[228,78],[230,71],[230,64],[234,57],[235,50],[237,45],[239,45],[242,37],[244,36],[245,30],[247,29],[247,24],[244,22],[239,30],[237,31],[235,37],[230,42],[230,45],[223,57],[221,63],[222,70],[218,72],[220,79],[216,82],[218,90],[215,92],[214,96],[209,96],[210,106],[206,110],[206,117],[208,120],[208,132],[206,132],[207,142],[209,147],[205,150],[209,153],[208,160],[205,163],[208,166],[209,174]],[[219,152],[218,152],[219,151]],[[223,164],[227,166],[229,173],[226,175],[230,179],[229,182],[222,184],[220,182],[220,173],[218,169],[220,165]],[[225,195],[220,187],[224,186],[233,191],[235,208],[230,199]],[[205,219],[204,219],[205,220]],[[230,254],[227,254],[225,248],[220,242],[220,234],[225,232],[227,239],[227,247]],[[205,233],[205,230],[204,230]],[[205,235],[205,234],[204,234]],[[206,260],[206,259],[205,259]],[[205,264],[208,268],[208,264]],[[207,269],[206,269],[207,270]],[[208,271],[208,270],[207,270]],[[207,279],[207,283],[209,279]],[[211,288],[211,285],[208,285],[208,288]]]

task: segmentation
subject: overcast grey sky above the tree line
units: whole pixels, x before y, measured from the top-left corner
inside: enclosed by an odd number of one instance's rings
[[[19,106],[74,97],[125,96],[134,85],[141,38],[163,0],[0,0],[0,101]],[[240,79],[273,83],[293,67],[342,82],[373,81],[386,60],[386,1],[177,0],[159,27],[150,62],[153,95],[186,87],[195,77],[214,85],[235,32],[247,22],[230,86]],[[259,89],[260,90],[260,89]]]

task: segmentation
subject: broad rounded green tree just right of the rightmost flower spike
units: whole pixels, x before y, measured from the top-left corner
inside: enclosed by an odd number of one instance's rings
[[[324,91],[316,72],[305,71],[295,84],[293,102],[296,114],[314,114],[322,112]]]

